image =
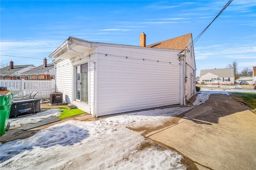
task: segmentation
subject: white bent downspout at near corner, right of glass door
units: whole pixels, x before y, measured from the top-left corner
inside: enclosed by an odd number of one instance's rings
[[[95,108],[95,105],[96,105],[96,103],[95,103],[95,101],[96,101],[96,97],[95,97],[95,94],[96,94],[96,93],[95,93],[95,91],[96,91],[96,83],[95,83],[95,82],[96,82],[96,71],[95,71],[95,69],[96,69],[96,67],[95,67],[95,65],[96,65],[96,63],[95,63],[95,61],[93,61],[93,60],[90,59],[89,57],[87,57],[87,56],[85,56],[85,55],[79,53],[78,51],[72,49],[72,48],[70,47],[71,42],[70,42],[70,41],[67,41],[67,42],[68,42],[67,48],[68,48],[70,51],[73,51],[74,53],[80,55],[81,57],[84,57],[84,58],[87,59],[88,61],[91,61],[92,64],[93,64],[93,86],[94,86],[93,88],[94,88],[94,90],[93,90],[93,114],[92,114],[92,117],[98,117],[98,114],[96,114],[96,108]]]

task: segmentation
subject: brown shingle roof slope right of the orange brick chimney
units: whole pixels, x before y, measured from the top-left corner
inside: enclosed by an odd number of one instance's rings
[[[188,44],[188,40],[191,35],[191,33],[186,34],[184,36],[179,36],[162,42],[153,43],[151,45],[146,45],[146,47],[184,50],[186,48],[186,45]]]

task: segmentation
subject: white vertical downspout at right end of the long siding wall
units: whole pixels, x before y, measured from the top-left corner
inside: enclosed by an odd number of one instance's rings
[[[185,85],[184,85],[184,58],[185,53],[178,53],[180,61],[180,105],[186,105],[185,100]]]

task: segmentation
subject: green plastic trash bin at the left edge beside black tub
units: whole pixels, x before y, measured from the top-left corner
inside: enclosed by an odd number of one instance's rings
[[[5,134],[8,125],[13,95],[0,96],[0,136]],[[8,127],[9,128],[9,127]]]

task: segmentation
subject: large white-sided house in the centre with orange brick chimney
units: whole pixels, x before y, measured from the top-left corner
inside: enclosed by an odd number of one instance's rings
[[[146,46],[68,38],[55,58],[56,90],[93,117],[185,105],[196,93],[192,34]]]

